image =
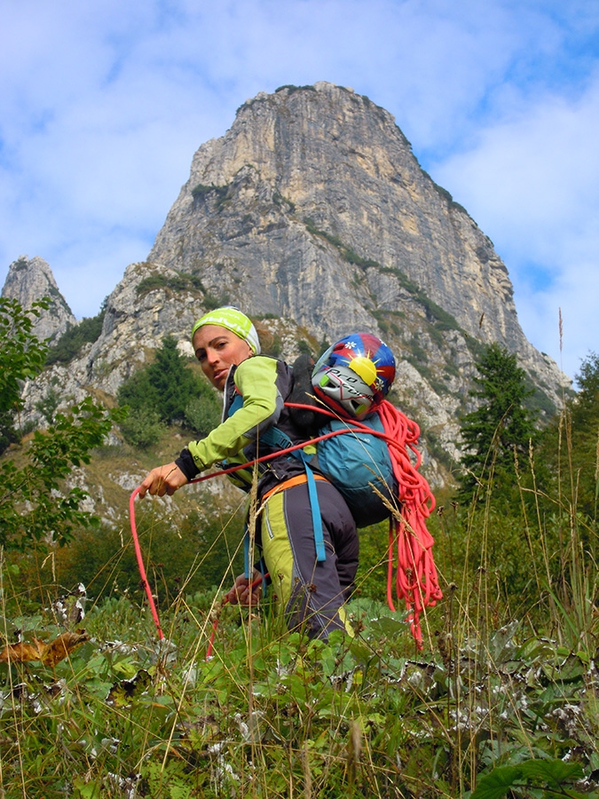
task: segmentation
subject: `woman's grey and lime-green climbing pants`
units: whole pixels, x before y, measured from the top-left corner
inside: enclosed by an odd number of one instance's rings
[[[261,543],[277,605],[288,627],[304,627],[310,637],[327,639],[331,629],[352,634],[343,609],[358,569],[356,524],[343,496],[326,480],[317,481],[327,558],[317,561],[311,505],[305,483],[272,494],[261,513]]]

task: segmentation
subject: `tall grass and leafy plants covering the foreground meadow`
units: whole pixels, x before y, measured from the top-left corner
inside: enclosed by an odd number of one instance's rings
[[[57,611],[48,564],[33,601],[3,556],[2,648],[69,627],[89,640],[53,666],[0,663],[0,796],[599,795],[596,512],[580,513],[575,475],[548,496],[532,452],[528,465],[509,512],[492,490],[431,520],[445,598],[422,653],[374,598],[380,530],[364,537],[357,634],[327,644],[289,632],[268,601],[223,605],[234,569],[215,589],[184,580],[173,593],[148,568],[161,642],[141,592],[114,585],[77,621]],[[123,535],[103,584],[129,546]]]

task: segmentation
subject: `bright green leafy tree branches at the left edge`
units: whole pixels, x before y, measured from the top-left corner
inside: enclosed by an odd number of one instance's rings
[[[33,334],[33,319],[45,300],[29,312],[17,300],[0,298],[0,421],[6,442],[16,443],[15,415],[23,409],[21,396],[25,380],[43,368],[48,348]],[[91,450],[98,447],[122,413],[106,410],[87,397],[64,413],[55,413],[45,430],[19,452],[19,463],[0,463],[0,545],[25,549],[35,542],[67,542],[80,526],[99,519],[81,509],[88,495],[80,487],[67,487],[73,469],[89,463]]]

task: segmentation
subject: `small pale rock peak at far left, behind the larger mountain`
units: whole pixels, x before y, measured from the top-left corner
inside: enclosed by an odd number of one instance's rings
[[[59,339],[68,327],[77,320],[60,294],[50,266],[40,257],[21,256],[9,267],[2,296],[19,300],[24,308],[42,297],[50,297],[51,305],[35,320],[35,336],[49,338],[51,343]]]

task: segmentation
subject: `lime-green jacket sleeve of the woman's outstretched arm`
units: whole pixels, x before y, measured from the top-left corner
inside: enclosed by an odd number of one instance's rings
[[[243,405],[205,439],[190,442],[187,449],[198,471],[237,455],[279,419],[284,403],[277,387],[276,360],[253,356],[240,363],[233,377]]]

